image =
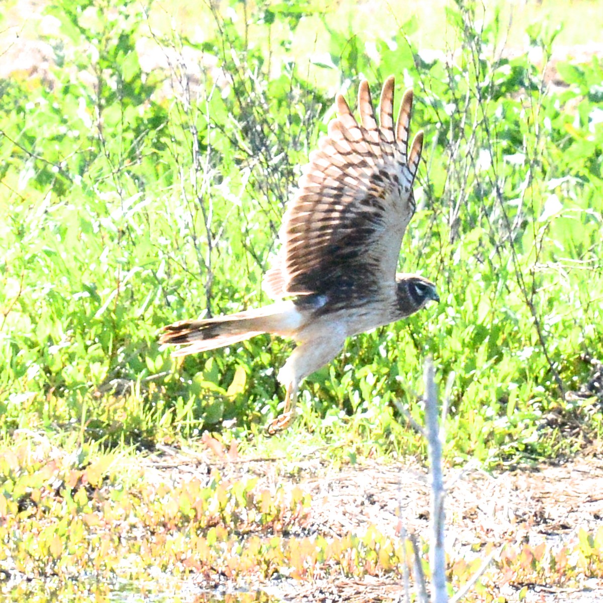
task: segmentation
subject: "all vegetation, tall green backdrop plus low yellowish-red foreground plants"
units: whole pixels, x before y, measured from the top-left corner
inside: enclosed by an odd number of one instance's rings
[[[25,575],[109,576],[125,558],[133,578],[150,566],[260,581],[275,567],[300,579],[399,572],[405,545],[377,528],[289,546],[283,530],[305,524],[301,490],[268,497],[215,472],[168,491],[124,467],[158,444],[206,446],[206,431],[243,456],[422,455],[394,402],[422,421],[428,355],[441,383],[456,375],[452,464],[556,458],[601,437],[599,60],[556,63],[563,84],[546,90],[558,30],[532,25],[526,48],[505,54],[500,15],[481,25],[460,0],[446,10],[450,60],[417,46],[417,19],[371,39],[303,2],[230,4],[180,35],[162,8],[147,18],[131,0],[49,3],[52,35],[39,39],[52,61],[0,80],[0,541]],[[298,33],[312,28],[326,42],[307,60]],[[157,333],[267,301],[283,207],[333,92],[353,101],[367,77],[376,96],[390,74],[397,101],[414,89],[412,133],[426,139],[400,270],[435,280],[442,301],[350,340],[302,386],[295,426],[268,440],[291,343],[260,336],[174,360]],[[115,531],[125,518],[140,540]],[[497,569],[601,575],[602,539],[517,545]],[[450,567],[455,586],[475,569],[461,554]]]

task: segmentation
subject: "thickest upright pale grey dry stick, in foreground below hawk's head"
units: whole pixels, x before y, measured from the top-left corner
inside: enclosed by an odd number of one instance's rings
[[[442,441],[438,424],[438,397],[435,391],[434,362],[425,363],[425,423],[428,437],[429,477],[431,478],[431,526],[429,563],[431,564],[431,601],[447,603],[446,552],[444,551],[444,478]]]

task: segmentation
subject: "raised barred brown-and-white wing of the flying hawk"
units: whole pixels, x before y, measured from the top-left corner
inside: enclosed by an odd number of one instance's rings
[[[333,290],[370,297],[379,283],[395,279],[423,146],[421,131],[408,150],[412,90],[396,124],[393,77],[381,92],[379,125],[367,81],[358,91],[360,123],[342,95],[335,103],[337,117],[310,154],[283,217],[282,248],[264,280],[272,297]]]

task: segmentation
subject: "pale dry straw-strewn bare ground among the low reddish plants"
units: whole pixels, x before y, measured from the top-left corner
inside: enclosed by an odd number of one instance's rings
[[[344,536],[362,534],[369,525],[396,535],[400,524],[421,538],[429,538],[428,476],[415,461],[378,463],[362,461],[336,469],[320,458],[306,456],[294,464],[279,459],[229,463],[207,452],[198,455],[164,448],[145,459],[145,479],[177,483],[195,476],[207,481],[216,467],[225,479],[253,475],[267,488],[295,485],[311,495],[311,523],[305,532]],[[469,557],[482,545],[547,541],[561,546],[577,540],[578,530],[603,525],[603,458],[597,451],[563,464],[542,464],[513,471],[486,473],[477,467],[450,469],[447,478],[447,552]],[[399,516],[401,521],[399,521]],[[474,552],[472,552],[474,551]],[[580,589],[555,584],[528,586],[530,602],[560,603],[603,601],[603,580],[591,579]],[[390,600],[401,593],[391,580],[358,582],[332,579],[311,585],[288,583],[270,586],[276,600],[368,601]],[[519,601],[517,589],[500,588],[502,601]]]

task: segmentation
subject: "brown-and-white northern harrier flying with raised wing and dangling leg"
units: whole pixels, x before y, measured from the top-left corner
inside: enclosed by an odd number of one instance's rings
[[[295,413],[301,380],[330,362],[346,338],[408,317],[429,300],[434,283],[396,273],[400,245],[415,210],[412,183],[423,132],[408,152],[412,90],[393,121],[394,78],[381,92],[377,125],[367,81],[360,83],[358,124],[342,95],[337,117],[303,168],[283,217],[282,247],[264,277],[270,306],[165,327],[160,343],[189,344],[184,356],[231,346],[260,333],[292,337],[297,347],[280,369],[283,414],[268,426],[285,429]],[[283,299],[285,298],[285,299]]]

